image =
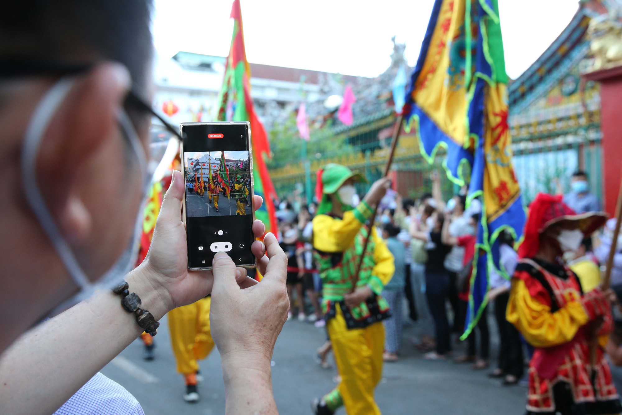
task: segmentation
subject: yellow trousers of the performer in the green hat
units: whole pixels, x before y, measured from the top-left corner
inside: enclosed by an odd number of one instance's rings
[[[338,388],[346,413],[380,415],[374,401],[374,389],[383,374],[383,323],[348,330],[340,307],[337,307],[337,315],[328,321],[328,336],[341,375]]]

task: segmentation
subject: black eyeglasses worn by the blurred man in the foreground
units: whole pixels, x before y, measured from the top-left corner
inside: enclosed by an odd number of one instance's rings
[[[0,80],[27,77],[32,75],[78,75],[88,71],[93,64],[66,64],[47,59],[5,59],[0,58]],[[151,105],[140,97],[140,94],[132,86],[125,97],[125,105],[134,107],[141,112],[156,117],[164,128],[172,133],[178,140],[183,141],[179,130],[164,120]]]

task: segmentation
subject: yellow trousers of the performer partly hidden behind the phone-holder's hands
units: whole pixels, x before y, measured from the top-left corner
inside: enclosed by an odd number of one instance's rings
[[[210,332],[210,303],[211,297],[205,297],[169,312],[170,342],[179,373],[195,373],[197,360],[205,359],[214,347]]]

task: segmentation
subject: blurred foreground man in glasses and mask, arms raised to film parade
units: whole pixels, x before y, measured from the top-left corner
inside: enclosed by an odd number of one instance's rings
[[[270,360],[288,302],[273,234],[251,247],[260,283],[224,252],[213,270],[188,270],[175,171],[149,253],[127,272],[150,179],[151,10],[147,0],[24,0],[0,15],[0,414],[142,414],[98,370],[208,293],[226,413],[277,413]],[[258,237],[264,229],[253,224]]]

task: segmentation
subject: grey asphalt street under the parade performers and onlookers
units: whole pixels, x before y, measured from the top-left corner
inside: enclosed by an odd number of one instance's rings
[[[143,346],[137,340],[102,372],[134,394],[147,415],[225,413],[218,351],[212,351],[201,363],[205,378],[199,385],[201,401],[185,403],[182,399],[183,379],[175,373],[166,318],[161,323],[156,336],[156,360],[142,360]],[[495,329],[491,324],[493,333]],[[384,365],[383,380],[376,389],[376,400],[384,415],[524,413],[526,388],[503,387],[499,381],[488,379],[487,371],[474,372],[467,365],[426,361],[407,344],[412,335],[415,335],[414,327],[406,326],[402,360]],[[274,395],[281,415],[311,414],[311,399],[335,386],[335,370],[322,370],[313,360],[315,349],[324,340],[325,331],[310,323],[295,320],[285,323],[276,343],[272,368]],[[493,357],[496,346],[493,344]],[[343,409],[338,412],[340,415],[344,413]]]

